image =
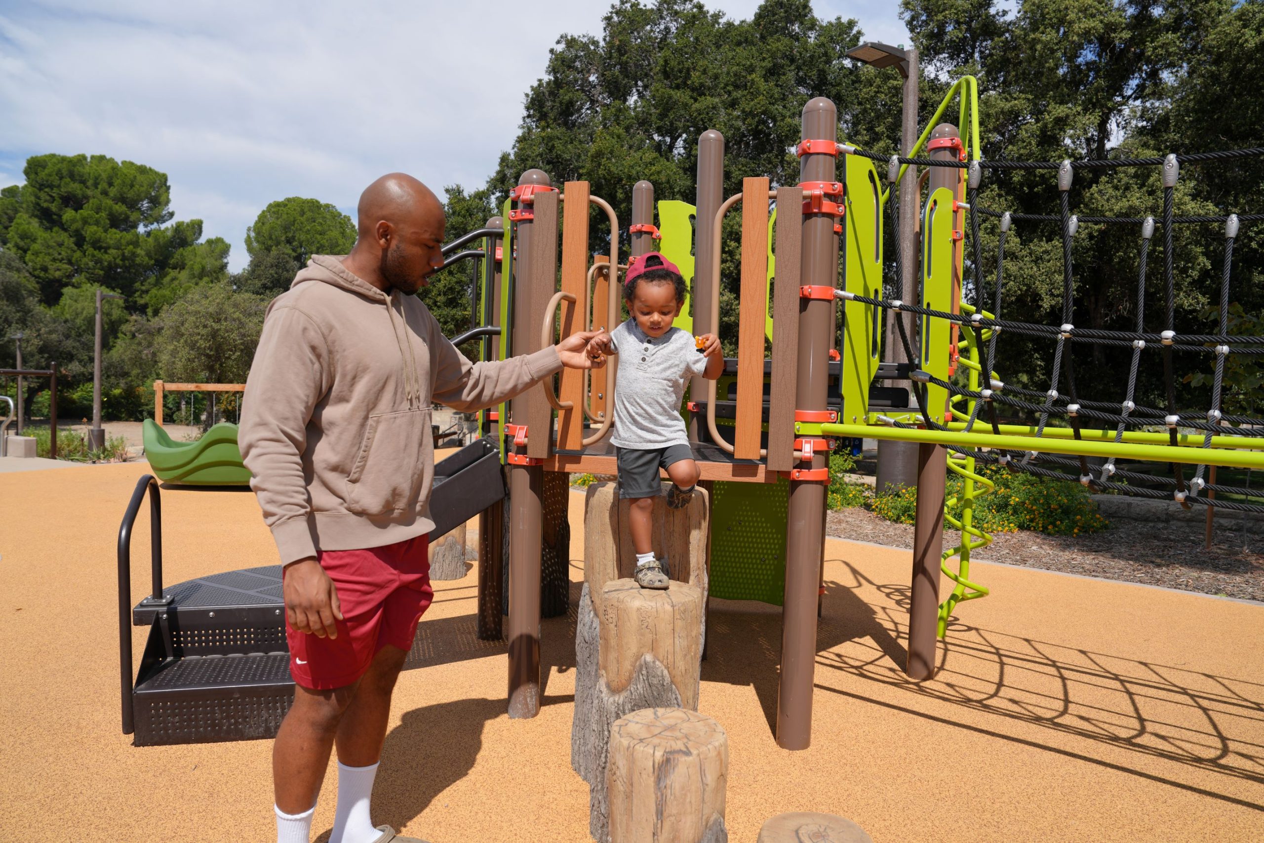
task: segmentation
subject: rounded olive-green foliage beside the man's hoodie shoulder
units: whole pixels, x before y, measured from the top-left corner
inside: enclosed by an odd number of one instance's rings
[[[154,359],[163,379],[243,383],[265,303],[226,283],[192,288],[155,320]]]

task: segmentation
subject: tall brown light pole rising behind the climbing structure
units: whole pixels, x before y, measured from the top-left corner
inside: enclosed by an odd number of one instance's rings
[[[891,47],[873,40],[867,40],[858,47],[847,51],[848,58],[865,62],[871,67],[895,67],[904,77],[904,105],[900,120],[900,150],[904,155],[913,153],[913,144],[918,142],[918,51]],[[916,192],[918,169],[909,166],[904,178],[900,181],[900,252],[904,255],[902,277],[904,298],[906,301],[919,301],[918,294],[918,206]],[[904,320],[904,329],[913,336],[913,320],[908,313],[897,313],[889,310],[886,312],[886,353],[884,356],[889,363],[908,363],[904,353],[904,344],[896,343],[895,320]],[[911,396],[911,384],[908,380],[891,382],[892,387],[904,387]],[[877,476],[875,488],[882,492],[887,485],[914,487],[918,484],[918,446],[914,442],[889,442],[878,440],[877,444]]]

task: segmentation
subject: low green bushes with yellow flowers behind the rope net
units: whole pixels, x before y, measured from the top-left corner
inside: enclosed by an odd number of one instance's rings
[[[980,530],[1030,530],[1050,536],[1078,536],[1110,526],[1085,487],[1074,480],[1052,480],[995,466],[985,468],[981,474],[996,488],[990,494],[980,494],[982,487],[976,484],[975,525]],[[949,473],[949,499],[961,495],[962,483],[959,476]],[[918,490],[889,489],[873,498],[871,509],[887,521],[911,525],[918,514]],[[956,514],[961,514],[961,507]]]

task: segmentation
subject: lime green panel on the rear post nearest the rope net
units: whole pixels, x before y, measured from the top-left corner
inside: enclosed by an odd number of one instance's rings
[[[928,310],[951,311],[953,263],[953,193],[940,187],[930,193],[921,214],[921,306]],[[921,318],[921,360],[919,368],[940,380],[948,379],[948,320]],[[937,422],[944,421],[948,391],[927,384],[927,412]]]

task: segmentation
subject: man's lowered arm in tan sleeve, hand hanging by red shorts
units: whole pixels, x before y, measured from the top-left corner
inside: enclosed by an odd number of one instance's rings
[[[329,391],[329,346],[316,324],[293,307],[269,312],[238,431],[250,488],[286,566],[286,617],[295,629],[322,638],[337,637],[343,613],[334,583],[316,561],[302,452],[312,409]]]

